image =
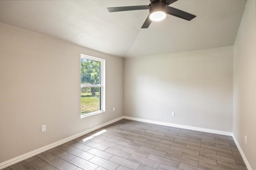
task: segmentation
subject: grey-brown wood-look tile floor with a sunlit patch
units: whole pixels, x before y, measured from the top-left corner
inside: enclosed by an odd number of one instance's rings
[[[4,170],[246,170],[230,136],[122,119]]]

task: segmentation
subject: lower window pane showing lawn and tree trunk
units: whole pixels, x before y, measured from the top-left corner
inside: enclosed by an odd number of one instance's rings
[[[81,115],[99,111],[100,108],[100,87],[81,88]]]

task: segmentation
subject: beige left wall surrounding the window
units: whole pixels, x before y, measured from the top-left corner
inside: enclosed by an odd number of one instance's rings
[[[80,54],[106,59],[106,112],[83,119]],[[0,162],[122,115],[122,58],[0,23]]]

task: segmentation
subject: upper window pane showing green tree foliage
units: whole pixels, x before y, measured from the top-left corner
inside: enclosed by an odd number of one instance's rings
[[[100,83],[100,61],[81,58],[81,84]]]

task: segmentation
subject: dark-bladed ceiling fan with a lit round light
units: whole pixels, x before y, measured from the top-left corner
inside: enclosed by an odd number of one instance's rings
[[[132,10],[148,10],[149,15],[146,21],[143,23],[141,28],[148,28],[152,21],[161,21],[166,18],[166,14],[182,18],[184,20],[192,20],[196,16],[189,14],[182,10],[170,7],[168,5],[176,2],[177,0],[150,0],[149,5],[140,6],[120,6],[107,8],[109,12],[120,12],[120,11],[132,11]]]

